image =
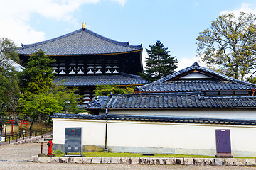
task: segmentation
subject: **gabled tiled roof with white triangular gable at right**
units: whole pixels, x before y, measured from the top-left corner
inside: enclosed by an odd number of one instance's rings
[[[198,70],[219,77],[221,80],[174,80],[175,77],[180,76],[186,72]],[[169,81],[169,82],[168,82]],[[219,72],[211,69],[201,67],[195,62],[191,67],[181,69],[178,72],[169,74],[162,79],[154,81],[150,84],[137,87],[137,91],[214,91],[214,90],[251,90],[256,89],[256,84],[247,83],[225,76]]]

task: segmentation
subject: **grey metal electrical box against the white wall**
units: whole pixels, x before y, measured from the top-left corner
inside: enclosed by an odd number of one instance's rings
[[[65,154],[79,152],[82,155],[82,128],[65,128]]]

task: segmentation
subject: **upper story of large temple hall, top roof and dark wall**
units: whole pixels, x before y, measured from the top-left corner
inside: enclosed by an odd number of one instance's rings
[[[51,64],[59,75],[136,74],[143,72],[142,45],[118,42],[81,28],[43,42],[22,45],[18,54],[24,64],[36,49],[55,58]]]

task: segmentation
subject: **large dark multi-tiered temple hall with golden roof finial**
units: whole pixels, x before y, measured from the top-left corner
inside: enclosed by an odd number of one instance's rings
[[[53,82],[65,79],[66,86],[78,87],[80,94],[85,94],[85,103],[94,97],[97,85],[139,86],[147,83],[137,75],[137,72],[143,72],[142,45],[105,38],[86,29],[85,23],[82,29],[72,33],[22,45],[18,48],[19,57],[26,64],[36,49],[55,58],[51,64],[56,73]]]

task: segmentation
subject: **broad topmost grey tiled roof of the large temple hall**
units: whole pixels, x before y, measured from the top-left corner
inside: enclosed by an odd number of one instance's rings
[[[95,55],[132,52],[141,50],[142,45],[129,45],[129,42],[118,42],[80,29],[51,40],[22,45],[18,54],[31,55],[36,52],[35,49],[42,49],[46,55]]]

